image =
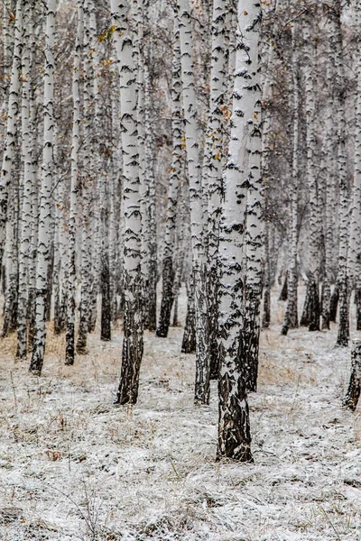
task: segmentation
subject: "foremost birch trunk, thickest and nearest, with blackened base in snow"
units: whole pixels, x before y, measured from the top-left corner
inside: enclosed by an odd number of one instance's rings
[[[253,152],[257,143],[254,146],[253,138],[259,136],[259,96],[258,88],[249,82],[255,81],[258,72],[260,5],[252,0],[239,0],[237,18],[236,77],[219,240],[218,458],[249,462],[252,461],[251,434],[243,363],[245,344],[241,332],[242,248],[247,186],[253,175],[256,179],[259,174],[258,166],[253,168],[253,160],[257,161]]]

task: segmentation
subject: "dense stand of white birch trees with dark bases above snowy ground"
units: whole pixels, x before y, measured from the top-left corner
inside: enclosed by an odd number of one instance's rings
[[[4,1],[2,336],[17,331],[33,374],[48,321],[71,365],[97,318],[104,341],[121,320],[116,403],[134,404],[143,329],[178,324],[184,282],[195,402],[218,380],[218,458],[252,460],[247,392],[275,280],[283,335],[327,331],[339,305],[346,346],[353,292],[361,328],[360,9]]]

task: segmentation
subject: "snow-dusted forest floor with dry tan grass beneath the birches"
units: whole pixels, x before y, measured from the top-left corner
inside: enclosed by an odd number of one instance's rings
[[[275,298],[276,299],[276,298]],[[184,298],[181,311],[184,316]],[[49,330],[41,378],[0,344],[0,538],[143,541],[361,539],[361,419],[342,410],[350,355],[328,333],[262,332],[249,397],[255,463],[215,462],[217,386],[193,405],[182,329],[145,334],[138,404],[112,405],[121,332],[63,365]],[[355,333],[353,333],[355,336]]]

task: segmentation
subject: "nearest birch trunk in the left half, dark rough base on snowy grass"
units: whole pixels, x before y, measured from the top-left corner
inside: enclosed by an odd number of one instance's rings
[[[124,291],[125,320],[122,369],[116,404],[135,404],[143,356],[143,309],[141,274],[141,198],[139,192],[139,149],[136,122],[136,71],[134,36],[127,18],[128,3],[111,0],[116,25],[116,53],[120,77],[120,110],[124,164]]]

